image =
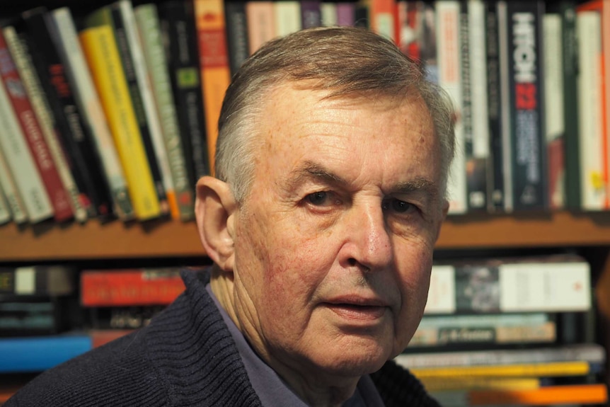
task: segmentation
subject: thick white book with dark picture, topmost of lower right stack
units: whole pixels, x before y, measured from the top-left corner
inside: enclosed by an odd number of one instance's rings
[[[590,308],[589,263],[577,256],[557,255],[435,264],[425,314]]]

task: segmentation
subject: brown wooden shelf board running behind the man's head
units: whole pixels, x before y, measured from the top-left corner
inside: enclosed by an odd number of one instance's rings
[[[610,212],[450,217],[439,249],[610,246]],[[205,256],[195,222],[0,227],[0,262]]]

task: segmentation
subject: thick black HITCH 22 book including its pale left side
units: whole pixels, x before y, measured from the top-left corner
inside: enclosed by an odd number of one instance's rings
[[[505,210],[548,209],[541,1],[499,1]]]

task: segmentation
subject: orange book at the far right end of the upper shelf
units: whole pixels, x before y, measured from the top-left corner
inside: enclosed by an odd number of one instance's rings
[[[601,72],[602,106],[602,188],[606,191],[604,209],[610,209],[610,3],[606,0],[589,0],[579,4],[577,11],[597,11],[602,16],[602,55],[599,58]]]

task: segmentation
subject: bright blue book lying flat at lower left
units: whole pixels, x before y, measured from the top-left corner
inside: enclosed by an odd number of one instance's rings
[[[42,372],[91,349],[84,333],[0,338],[0,372]]]

